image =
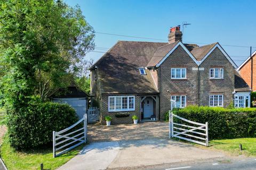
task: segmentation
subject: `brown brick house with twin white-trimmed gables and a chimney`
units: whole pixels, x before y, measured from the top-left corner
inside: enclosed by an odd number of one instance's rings
[[[187,105],[250,107],[251,89],[219,43],[183,44],[180,27],[168,43],[118,41],[91,68],[91,93],[100,122],[162,120],[166,111]],[[243,96],[240,97],[240,96]],[[237,98],[238,97],[238,98]],[[129,115],[120,117],[116,115]]]

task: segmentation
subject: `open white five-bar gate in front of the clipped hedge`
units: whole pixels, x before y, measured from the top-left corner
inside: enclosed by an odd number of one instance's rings
[[[193,124],[193,126],[175,123],[173,117],[177,117],[179,120]],[[198,125],[197,127],[195,125]],[[186,129],[184,129],[184,127]],[[190,138],[188,138],[190,137]],[[179,138],[194,142],[200,145],[208,146],[208,122],[205,124],[189,121],[186,118],[180,117],[169,111],[169,138]],[[191,139],[192,138],[192,139]]]

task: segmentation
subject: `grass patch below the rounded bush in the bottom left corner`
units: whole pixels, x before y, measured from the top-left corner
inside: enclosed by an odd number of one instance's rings
[[[74,150],[67,152],[57,158],[52,156],[52,148],[41,149],[29,152],[16,152],[14,151],[8,142],[6,137],[1,146],[1,157],[9,170],[22,170],[22,169],[40,169],[40,164],[44,164],[44,169],[56,169],[65,164],[76,156],[78,152],[83,148],[79,146]]]

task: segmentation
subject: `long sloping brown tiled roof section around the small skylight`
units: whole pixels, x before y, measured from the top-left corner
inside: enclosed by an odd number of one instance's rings
[[[118,41],[94,64],[98,67],[101,94],[156,93],[151,74],[140,75],[158,47],[167,43]]]

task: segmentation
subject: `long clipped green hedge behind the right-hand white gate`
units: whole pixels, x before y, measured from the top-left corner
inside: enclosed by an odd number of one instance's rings
[[[188,106],[184,109],[174,109],[173,113],[191,121],[208,122],[209,139],[256,137],[256,108]],[[174,121],[181,122],[178,119]]]

